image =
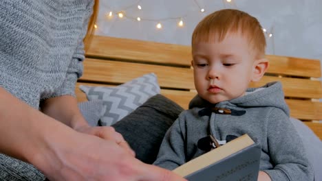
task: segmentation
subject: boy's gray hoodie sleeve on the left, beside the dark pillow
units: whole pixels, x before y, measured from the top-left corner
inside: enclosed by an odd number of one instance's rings
[[[184,121],[180,120],[179,116],[171,128],[169,128],[163,138],[158,157],[153,162],[153,165],[173,170],[186,162],[184,154],[184,135],[186,135],[186,130],[182,127],[182,122]]]

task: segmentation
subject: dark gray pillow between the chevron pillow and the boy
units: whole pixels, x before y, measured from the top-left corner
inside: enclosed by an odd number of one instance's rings
[[[182,111],[178,104],[158,94],[111,126],[122,134],[136,158],[152,164],[164,134]]]

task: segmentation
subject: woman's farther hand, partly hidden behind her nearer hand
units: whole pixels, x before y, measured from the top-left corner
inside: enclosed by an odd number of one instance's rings
[[[122,134],[115,131],[113,127],[110,126],[99,126],[99,127],[92,127],[90,125],[83,125],[81,127],[75,128],[78,132],[83,132],[85,134],[92,134],[94,136],[98,136],[103,138],[107,141],[114,141],[120,147],[125,149],[129,154],[135,156],[135,152],[129,147],[129,144],[125,141]]]

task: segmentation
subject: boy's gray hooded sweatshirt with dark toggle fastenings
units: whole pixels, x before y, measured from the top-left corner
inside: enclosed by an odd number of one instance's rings
[[[208,111],[211,107],[229,109],[231,114]],[[246,95],[217,104],[196,96],[167,131],[153,164],[172,170],[204,154],[197,142],[209,134],[219,141],[248,134],[261,147],[259,169],[272,180],[313,180],[279,82],[248,88]]]

